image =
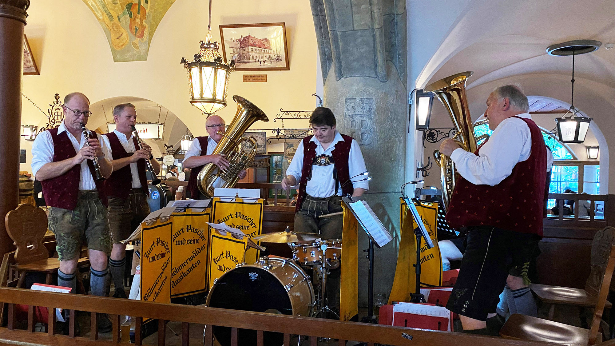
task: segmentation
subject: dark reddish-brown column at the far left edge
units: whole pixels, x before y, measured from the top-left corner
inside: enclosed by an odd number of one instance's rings
[[[0,259],[14,249],[4,215],[18,203],[23,27],[29,6],[29,0],[0,0]]]

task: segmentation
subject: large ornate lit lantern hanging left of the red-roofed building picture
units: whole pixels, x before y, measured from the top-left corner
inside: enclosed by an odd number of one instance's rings
[[[209,115],[226,107],[226,90],[235,60],[226,65],[218,52],[218,42],[212,42],[212,0],[209,0],[209,25],[206,41],[200,41],[200,50],[194,60],[181,58],[188,72],[190,103]]]

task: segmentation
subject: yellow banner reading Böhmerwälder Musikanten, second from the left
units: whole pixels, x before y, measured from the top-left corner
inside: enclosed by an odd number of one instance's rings
[[[207,249],[211,209],[173,213],[171,297],[207,291]]]

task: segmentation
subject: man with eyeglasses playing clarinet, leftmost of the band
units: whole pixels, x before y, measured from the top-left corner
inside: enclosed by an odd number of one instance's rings
[[[49,229],[54,232],[60,257],[58,286],[76,291],[76,271],[81,239],[87,239],[90,259],[90,287],[94,296],[105,296],[111,233],[103,182],[96,181],[93,159],[108,178],[113,172],[105,157],[105,145],[91,131],[85,140],[81,124],[87,124],[90,100],[81,92],[64,98],[65,118],[55,129],[43,131],[32,145],[32,172],[42,184],[50,206]],[[89,145],[87,145],[89,143]],[[98,331],[111,331],[111,321],[99,316]]]

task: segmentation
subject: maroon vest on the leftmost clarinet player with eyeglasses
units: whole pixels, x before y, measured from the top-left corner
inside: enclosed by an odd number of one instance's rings
[[[77,155],[73,147],[73,143],[68,138],[66,132],[58,135],[58,128],[48,130],[51,134],[51,139],[54,141],[54,161],[58,162],[65,159],[73,158]],[[96,132],[91,131],[90,137],[96,139]],[[87,166],[90,167],[90,173],[96,183],[98,190],[98,198],[107,205],[103,183],[96,181],[94,172],[94,164],[92,160],[87,160]],[[73,210],[77,206],[77,197],[79,196],[79,179],[81,179],[81,165],[76,164],[69,169],[65,174],[58,177],[42,180],[42,193],[45,196],[45,201],[50,207],[58,207],[63,209]]]

